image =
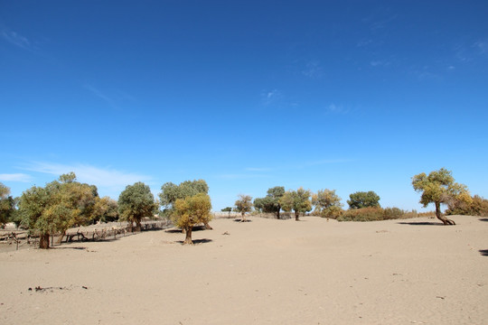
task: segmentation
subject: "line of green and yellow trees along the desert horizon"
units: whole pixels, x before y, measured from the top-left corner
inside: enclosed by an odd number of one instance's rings
[[[452,172],[444,168],[428,175],[424,172],[415,175],[412,186],[421,193],[420,203],[424,207],[434,203],[436,217],[446,225],[455,225],[455,222],[441,212],[441,204],[447,205],[447,215],[488,215],[488,200],[471,197],[467,187],[456,183]],[[159,200],[155,200],[149,186],[136,182],[127,185],[118,200],[112,200],[100,198],[95,185],[80,183],[74,172],[70,172],[44,187],[33,186],[23,191],[20,197],[13,198],[10,190],[0,183],[0,227],[14,222],[17,227],[34,230],[40,236],[40,247],[49,248],[50,236],[65,234],[71,227],[119,220],[127,221],[131,230],[139,231],[143,218],[154,218],[155,214],[159,214],[171,218],[176,227],[183,229],[186,234],[183,244],[192,244],[193,226],[202,224],[211,229],[211,198],[208,191],[208,184],[203,180],[183,181],[178,185],[166,182],[158,194]],[[246,214],[252,209],[274,213],[278,219],[280,211],[293,212],[296,220],[313,208],[314,215],[343,220],[358,219],[357,216],[371,213],[395,218],[402,213],[397,208],[381,209],[380,196],[372,190],[352,193],[347,200],[348,210],[343,209],[341,200],[335,190],[324,189],[313,193],[303,188],[285,190],[283,186],[276,186],[268,189],[265,197],[255,200],[241,194],[233,208],[222,211],[238,211],[242,221],[246,220]]]

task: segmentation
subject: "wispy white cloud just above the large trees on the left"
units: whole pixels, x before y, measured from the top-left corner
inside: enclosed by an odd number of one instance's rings
[[[148,175],[135,172],[120,172],[110,168],[99,168],[89,164],[61,164],[61,163],[30,163],[23,167],[31,172],[48,173],[59,176],[63,173],[74,172],[78,181],[105,187],[109,190],[124,189],[136,181],[151,181]]]

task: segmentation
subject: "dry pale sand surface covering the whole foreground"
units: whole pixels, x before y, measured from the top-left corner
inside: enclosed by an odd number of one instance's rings
[[[0,323],[488,324],[486,218],[250,219],[0,253]]]

